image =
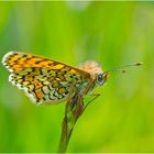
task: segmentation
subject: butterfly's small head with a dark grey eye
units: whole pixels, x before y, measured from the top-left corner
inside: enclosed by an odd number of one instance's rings
[[[102,73],[102,74],[98,74],[97,75],[97,82],[98,82],[98,85],[102,86],[107,81],[108,77],[109,77],[108,72]]]

